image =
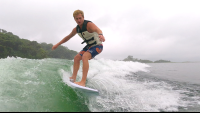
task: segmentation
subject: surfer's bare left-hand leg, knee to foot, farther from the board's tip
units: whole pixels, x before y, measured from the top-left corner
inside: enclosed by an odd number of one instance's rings
[[[79,67],[80,67],[81,59],[82,59],[82,56],[80,54],[77,54],[74,57],[73,74],[72,74],[72,77],[70,77],[70,79],[73,79],[74,82],[76,81],[76,76],[77,76],[77,72],[78,72]]]

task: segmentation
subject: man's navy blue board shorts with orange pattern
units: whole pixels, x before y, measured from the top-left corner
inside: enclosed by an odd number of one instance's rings
[[[100,45],[96,45],[96,46],[93,46],[93,47],[89,47],[89,48],[83,48],[83,50],[81,50],[79,52],[79,54],[81,56],[83,56],[83,54],[87,51],[87,52],[90,52],[91,55],[92,55],[92,58],[93,59],[96,55],[98,55],[99,53],[101,53],[103,50],[103,45],[100,44]]]

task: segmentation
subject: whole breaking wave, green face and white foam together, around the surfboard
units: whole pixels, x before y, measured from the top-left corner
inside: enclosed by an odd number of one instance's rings
[[[99,96],[68,86],[73,60],[0,59],[0,111],[184,111],[200,104],[198,94],[190,98],[181,83],[145,75],[147,64],[98,59],[89,65],[86,86],[99,90]],[[82,62],[77,81],[81,77]]]

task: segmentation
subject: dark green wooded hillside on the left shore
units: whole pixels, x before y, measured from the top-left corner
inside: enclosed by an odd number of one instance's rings
[[[62,45],[52,51],[52,46],[53,44],[21,39],[12,32],[0,29],[0,58],[13,56],[29,59],[61,58],[72,60],[77,54],[76,51],[69,50]]]

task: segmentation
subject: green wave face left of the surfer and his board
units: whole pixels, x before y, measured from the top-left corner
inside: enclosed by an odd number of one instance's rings
[[[87,112],[84,96],[68,87],[59,70],[70,72],[73,61],[0,59],[0,111]]]

